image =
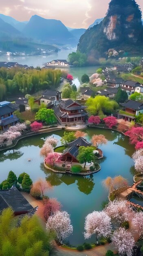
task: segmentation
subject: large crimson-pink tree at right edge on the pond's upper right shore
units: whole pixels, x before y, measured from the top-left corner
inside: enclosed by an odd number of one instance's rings
[[[130,144],[137,144],[143,136],[143,127],[132,127],[125,135],[130,137]]]

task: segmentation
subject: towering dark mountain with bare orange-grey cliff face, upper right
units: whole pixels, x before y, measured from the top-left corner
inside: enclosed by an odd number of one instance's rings
[[[141,10],[135,0],[111,0],[106,17],[81,36],[78,51],[86,53],[88,61],[105,57],[110,48],[125,56],[143,54]]]

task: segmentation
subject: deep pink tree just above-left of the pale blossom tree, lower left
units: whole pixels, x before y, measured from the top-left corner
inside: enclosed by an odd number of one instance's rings
[[[56,198],[44,199],[43,204],[40,204],[37,210],[37,215],[44,218],[46,221],[56,211],[61,209],[62,205]]]

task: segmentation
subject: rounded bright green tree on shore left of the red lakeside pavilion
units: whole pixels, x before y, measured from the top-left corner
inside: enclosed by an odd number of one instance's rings
[[[54,110],[41,108],[35,115],[35,120],[45,122],[46,124],[53,124],[57,121]]]

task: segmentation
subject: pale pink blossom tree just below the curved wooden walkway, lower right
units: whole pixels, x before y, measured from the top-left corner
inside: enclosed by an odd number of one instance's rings
[[[105,207],[104,211],[108,216],[114,220],[114,222],[119,222],[120,224],[124,221],[130,220],[133,215],[132,209],[128,206],[127,201],[110,201]]]

